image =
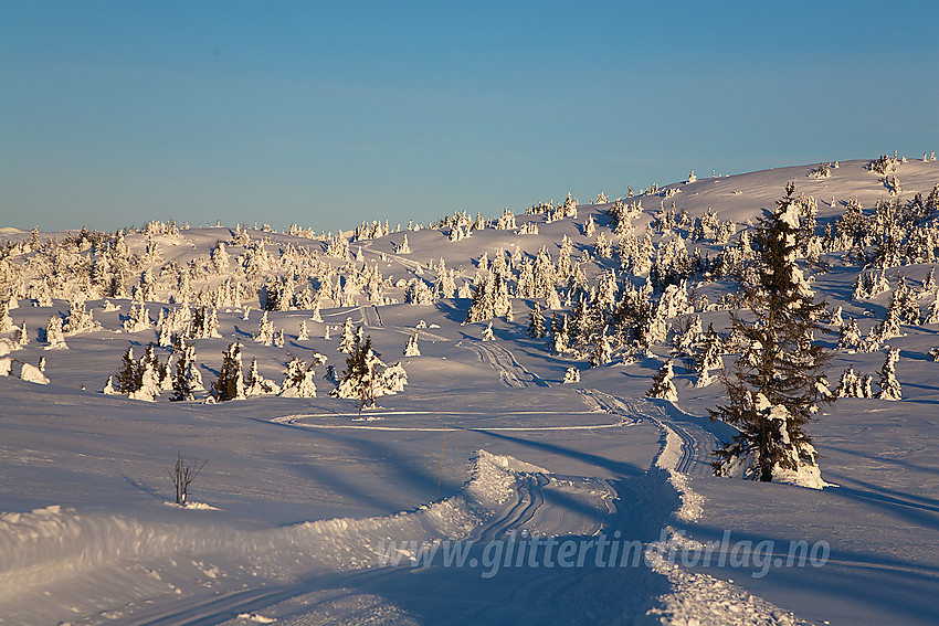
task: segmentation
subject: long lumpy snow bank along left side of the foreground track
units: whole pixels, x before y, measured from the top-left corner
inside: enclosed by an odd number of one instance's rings
[[[296,580],[315,570],[380,566],[382,544],[389,540],[470,538],[530,471],[542,470],[477,450],[463,489],[442,501],[390,516],[317,520],[263,531],[196,519],[171,523],[84,514],[60,506],[2,513],[0,606],[19,605],[29,613],[51,585],[70,581],[70,587],[77,588],[99,576],[112,581],[110,594],[119,590],[128,597],[147,595],[154,593],[155,581],[178,577],[180,562],[198,565],[212,579],[251,572],[252,579],[275,581]],[[187,508],[211,509],[208,505]],[[68,611],[64,604],[56,607],[55,600],[43,602],[50,603],[53,613]]]

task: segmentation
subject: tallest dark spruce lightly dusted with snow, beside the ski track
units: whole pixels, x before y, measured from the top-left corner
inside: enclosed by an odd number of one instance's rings
[[[715,450],[718,460],[713,466],[717,476],[742,473],[753,480],[820,488],[823,481],[805,425],[819,402],[834,397],[822,373],[827,353],[812,341],[825,305],[813,301],[796,264],[794,191],[795,184],[788,183],[776,211],[757,227],[758,282],[746,293],[752,321],[731,315],[745,346],[724,376],[728,403],[709,411],[711,420],[722,420],[739,433]]]

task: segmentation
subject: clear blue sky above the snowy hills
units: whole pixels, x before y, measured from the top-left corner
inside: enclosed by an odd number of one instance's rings
[[[516,213],[939,150],[939,2],[0,0],[0,225]]]

